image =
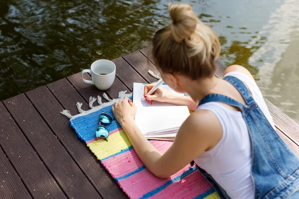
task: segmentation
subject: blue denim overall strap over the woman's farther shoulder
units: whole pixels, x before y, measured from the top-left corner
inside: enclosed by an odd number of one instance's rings
[[[247,87],[243,82],[241,82],[241,80],[233,76],[226,76],[225,78],[223,78],[223,80],[226,80],[229,83],[231,83],[240,92],[247,105],[255,102]]]

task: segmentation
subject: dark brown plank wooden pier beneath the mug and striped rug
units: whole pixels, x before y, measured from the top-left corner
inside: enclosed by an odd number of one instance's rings
[[[148,73],[147,51],[143,49],[113,60],[117,66],[116,79],[105,91],[111,99],[118,98],[120,91],[132,92],[134,82],[156,81]],[[222,77],[226,66],[219,61],[216,64],[215,75]],[[89,97],[103,93],[83,83],[81,73],[77,73],[0,102],[0,198],[126,198],[100,161],[76,136],[68,118],[60,114],[63,109],[77,114],[77,102],[82,102],[82,109],[88,110]],[[299,155],[299,124],[270,101],[266,103],[276,131]]]

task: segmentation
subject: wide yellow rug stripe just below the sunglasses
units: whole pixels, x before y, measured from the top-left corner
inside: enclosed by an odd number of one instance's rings
[[[97,156],[98,160],[120,152],[122,149],[126,149],[131,145],[124,130],[109,135],[108,142],[101,139],[87,144],[90,150]]]

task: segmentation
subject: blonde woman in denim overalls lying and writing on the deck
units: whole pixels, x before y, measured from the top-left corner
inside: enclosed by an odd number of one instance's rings
[[[136,126],[131,100],[115,103],[113,113],[134,149],[154,175],[167,178],[194,160],[222,198],[299,198],[299,159],[274,130],[261,91],[245,68],[233,65],[218,79],[214,61],[220,44],[187,4],[169,6],[172,23],[158,30],[152,55],[163,81],[147,100],[187,105],[193,112],[172,146],[161,155]]]

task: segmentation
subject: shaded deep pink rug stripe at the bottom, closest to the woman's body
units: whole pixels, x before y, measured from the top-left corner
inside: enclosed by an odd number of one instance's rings
[[[184,179],[167,186],[166,189],[151,198],[178,199],[184,196],[186,199],[193,199],[211,188],[211,184],[206,181],[199,171],[195,171]]]

